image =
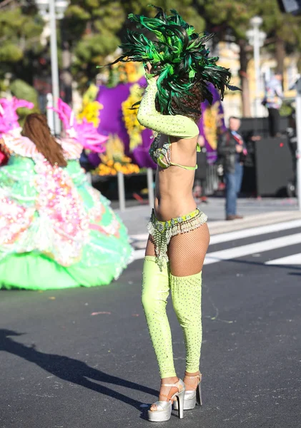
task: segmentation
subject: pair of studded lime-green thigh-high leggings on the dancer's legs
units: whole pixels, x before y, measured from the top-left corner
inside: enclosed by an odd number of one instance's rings
[[[184,332],[186,370],[194,373],[199,370],[202,345],[202,272],[175,277],[169,273],[167,263],[160,271],[155,257],[146,256],[143,267],[142,305],[162,378],[176,375],[172,335],[166,313],[169,288],[174,311]]]

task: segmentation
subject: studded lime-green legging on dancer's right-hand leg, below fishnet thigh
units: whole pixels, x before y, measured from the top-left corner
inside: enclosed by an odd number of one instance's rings
[[[202,345],[202,272],[186,277],[170,274],[174,312],[184,332],[186,370],[199,370]]]

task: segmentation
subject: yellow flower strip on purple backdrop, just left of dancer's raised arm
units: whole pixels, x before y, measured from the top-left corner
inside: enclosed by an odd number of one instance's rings
[[[142,131],[145,129],[137,121],[138,110],[131,110],[134,103],[137,103],[142,97],[142,88],[138,83],[135,83],[129,91],[129,98],[122,103],[122,113],[127,133],[129,134],[129,150],[142,144]]]

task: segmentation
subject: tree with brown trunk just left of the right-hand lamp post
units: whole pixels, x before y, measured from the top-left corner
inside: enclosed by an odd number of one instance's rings
[[[283,73],[285,52],[287,49],[300,51],[300,16],[282,14],[277,0],[195,0],[199,11],[207,19],[208,29],[217,29],[220,40],[229,36],[240,46],[240,80],[242,88],[242,114],[250,116],[249,83],[247,65],[252,48],[246,36],[250,28],[250,19],[259,15],[263,19],[263,29],[267,31],[267,42],[275,52],[278,71]],[[218,11],[218,14],[217,14]]]

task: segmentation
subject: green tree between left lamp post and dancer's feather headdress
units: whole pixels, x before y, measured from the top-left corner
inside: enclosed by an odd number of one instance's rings
[[[158,0],[157,6],[177,9],[180,14],[196,26],[204,29],[204,19],[192,6],[193,0]],[[107,55],[121,44],[129,22],[127,15],[154,14],[147,7],[149,0],[71,0],[64,19],[64,41],[68,41],[74,56],[72,74],[79,86],[84,87],[98,73],[97,65],[104,64]]]

